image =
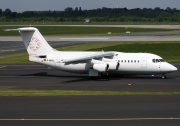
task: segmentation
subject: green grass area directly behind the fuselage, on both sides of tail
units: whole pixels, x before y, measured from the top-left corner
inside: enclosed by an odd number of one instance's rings
[[[180,42],[108,42],[90,43],[58,48],[60,51],[119,51],[147,52],[163,57],[168,62],[180,62]],[[0,64],[33,64],[27,53],[0,56]]]

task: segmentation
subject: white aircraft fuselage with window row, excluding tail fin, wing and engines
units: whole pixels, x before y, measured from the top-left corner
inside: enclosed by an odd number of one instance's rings
[[[63,63],[63,61],[73,59],[76,57],[84,57],[86,55],[93,55],[99,52],[60,52],[54,51],[48,54],[46,58],[32,58],[31,61],[41,63],[46,66],[57,68],[67,72],[74,73],[88,73],[92,68],[91,61],[81,61],[74,63]],[[150,53],[122,53],[114,52],[114,56],[111,57],[115,62],[119,62],[117,70],[108,70],[109,73],[116,74],[166,74],[177,70],[173,65],[162,60],[161,57]],[[103,61],[103,59],[98,59]],[[161,61],[160,61],[161,60]],[[153,62],[155,61],[155,62]]]

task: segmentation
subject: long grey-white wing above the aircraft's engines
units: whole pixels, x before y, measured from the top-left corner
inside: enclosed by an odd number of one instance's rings
[[[103,58],[103,57],[108,57],[108,56],[114,56],[114,53],[113,52],[102,52],[102,53],[93,54],[93,55],[86,55],[86,56],[77,57],[74,59],[65,60],[65,61],[63,61],[63,63],[73,63],[73,62],[78,62],[78,61],[86,61],[86,60]]]

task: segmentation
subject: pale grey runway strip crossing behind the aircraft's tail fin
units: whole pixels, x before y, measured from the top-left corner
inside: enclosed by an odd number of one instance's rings
[[[156,33],[131,33],[131,34],[112,34],[104,36],[44,36],[44,38],[49,41],[99,41],[99,42],[110,42],[110,41],[179,41],[180,32],[156,32]],[[4,37],[0,36],[0,41],[22,41],[20,36],[10,36]]]

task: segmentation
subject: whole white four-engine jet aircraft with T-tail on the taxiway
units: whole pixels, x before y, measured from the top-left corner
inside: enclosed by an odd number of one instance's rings
[[[177,70],[160,56],[150,53],[57,51],[38,29],[33,27],[7,29],[19,31],[29,54],[29,60],[48,67],[74,73],[88,73],[90,77],[108,74],[162,75]]]

